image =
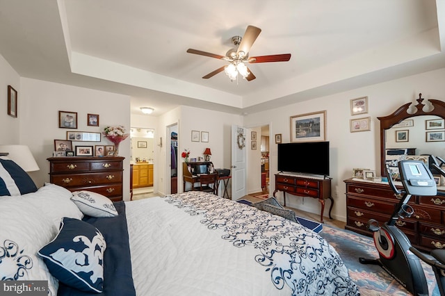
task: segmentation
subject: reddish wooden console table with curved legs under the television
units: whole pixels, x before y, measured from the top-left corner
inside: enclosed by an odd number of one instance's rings
[[[321,204],[321,223],[324,223],[323,213],[325,212],[325,199],[330,199],[329,217],[332,219],[331,211],[332,206],[334,206],[334,199],[331,196],[331,179],[315,179],[305,176],[275,174],[275,191],[273,192],[273,197],[275,197],[275,193],[278,191],[283,192],[284,206],[286,206],[286,192],[299,197],[318,199],[318,202]]]

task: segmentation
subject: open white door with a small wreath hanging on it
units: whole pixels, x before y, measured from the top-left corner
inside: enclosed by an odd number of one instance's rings
[[[246,131],[241,126],[232,125],[232,200],[247,195]]]

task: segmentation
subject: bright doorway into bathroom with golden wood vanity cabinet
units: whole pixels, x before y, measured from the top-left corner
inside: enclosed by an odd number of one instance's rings
[[[133,195],[153,192],[154,129],[131,127],[131,165]]]

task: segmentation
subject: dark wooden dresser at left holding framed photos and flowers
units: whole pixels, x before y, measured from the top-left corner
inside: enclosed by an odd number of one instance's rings
[[[89,190],[122,200],[124,157],[51,157],[50,182],[70,191]]]

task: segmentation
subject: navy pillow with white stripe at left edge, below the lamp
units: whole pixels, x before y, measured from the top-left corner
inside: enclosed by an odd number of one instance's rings
[[[25,195],[37,191],[33,179],[14,161],[0,158],[0,196]]]

